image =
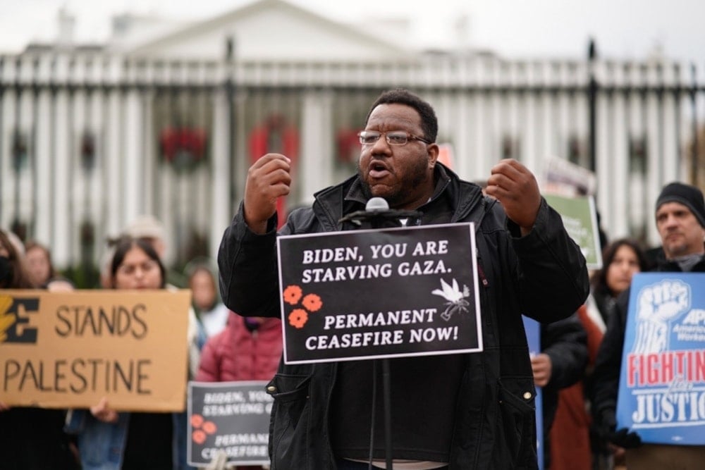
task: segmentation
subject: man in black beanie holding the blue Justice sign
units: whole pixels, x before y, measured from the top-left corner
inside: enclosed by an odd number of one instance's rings
[[[656,228],[664,255],[656,271],[705,272],[705,202],[697,187],[683,183],[663,187],[656,199]],[[591,390],[594,419],[617,452],[627,449],[630,469],[701,469],[704,445],[642,445],[637,433],[615,429],[629,296],[627,289],[618,298],[597,353]]]

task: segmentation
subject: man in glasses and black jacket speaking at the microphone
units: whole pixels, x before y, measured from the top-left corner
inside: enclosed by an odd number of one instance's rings
[[[485,197],[439,163],[437,132],[430,104],[405,89],[384,92],[360,132],[357,175],[317,192],[279,233],[355,230],[341,218],[372,197],[421,212],[422,225],[477,224],[484,350],[390,360],[393,468],[535,469],[536,394],[522,314],[551,322],[576,311],[589,292],[585,259],[525,166],[499,161]],[[276,199],[290,185],[290,159],[262,156],[223,234],[221,294],[240,315],[280,316]],[[371,399],[381,378],[371,363],[281,362],[268,386],[272,470],[386,466],[384,405],[376,400],[372,409]]]

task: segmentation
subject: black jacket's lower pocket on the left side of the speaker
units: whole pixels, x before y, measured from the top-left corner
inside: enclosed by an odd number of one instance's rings
[[[266,390],[274,398],[269,419],[269,457],[271,469],[295,468],[302,462],[297,450],[306,449],[311,376],[278,373],[267,384]]]

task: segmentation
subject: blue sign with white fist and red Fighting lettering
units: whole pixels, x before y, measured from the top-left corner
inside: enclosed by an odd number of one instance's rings
[[[645,443],[705,444],[705,273],[632,278],[618,428]]]

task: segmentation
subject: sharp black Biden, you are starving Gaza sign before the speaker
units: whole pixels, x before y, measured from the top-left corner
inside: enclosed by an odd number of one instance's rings
[[[284,361],[482,350],[470,223],[277,239]]]

